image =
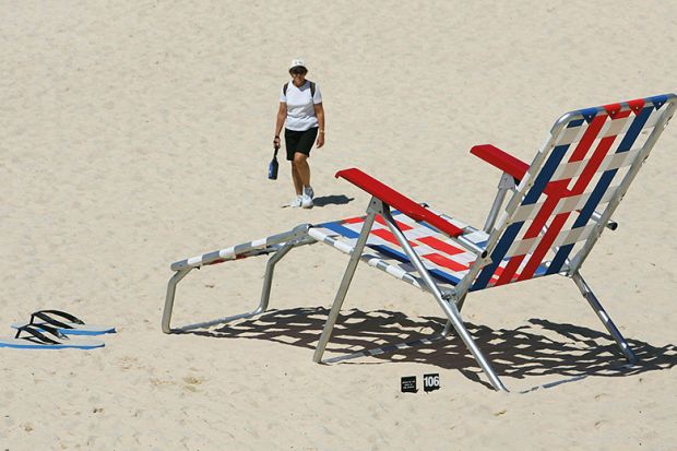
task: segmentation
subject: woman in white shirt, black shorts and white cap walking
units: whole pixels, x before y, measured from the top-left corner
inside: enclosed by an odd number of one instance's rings
[[[306,80],[307,73],[308,69],[302,59],[292,61],[292,81],[286,83],[280,93],[273,145],[280,147],[280,133],[284,126],[287,161],[292,163],[292,180],[296,190],[296,197],[289,206],[311,209],[313,191],[310,187],[308,157],[316,140],[318,149],[324,145],[324,109],[320,88]]]

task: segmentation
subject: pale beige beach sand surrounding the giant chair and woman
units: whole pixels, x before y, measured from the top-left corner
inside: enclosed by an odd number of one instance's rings
[[[482,226],[499,173],[471,146],[530,162],[566,111],[677,91],[677,2],[22,1],[0,21],[0,335],[40,308],[118,331],[102,349],[0,348],[0,450],[677,447],[674,124],[582,270],[633,369],[563,277],[466,302],[508,394],[458,340],[313,364],[347,263],[325,246],[280,264],[261,319],[159,328],[171,262],[361,214],[368,194],[339,169]],[[265,178],[297,56],[326,112],[312,210],[280,207],[286,162]],[[253,308],[264,264],[191,273],[175,323]],[[441,321],[431,297],[363,265],[329,355]],[[441,389],[400,392],[425,373]]]

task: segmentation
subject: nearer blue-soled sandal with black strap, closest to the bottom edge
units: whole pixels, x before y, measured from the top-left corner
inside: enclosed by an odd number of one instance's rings
[[[27,336],[20,336],[22,335]],[[49,325],[26,324],[16,329],[13,339],[0,339],[0,347],[14,347],[20,349],[63,349],[72,347],[76,349],[92,349],[104,346],[100,340],[69,339],[58,329]]]

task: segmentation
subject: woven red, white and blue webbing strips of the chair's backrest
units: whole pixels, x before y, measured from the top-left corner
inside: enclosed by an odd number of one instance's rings
[[[618,185],[610,186],[614,175],[620,167],[636,163],[636,157],[642,149],[632,149],[632,145],[641,130],[654,127],[657,122],[658,118],[655,115],[652,116],[651,111],[655,106],[660,108],[665,103],[665,98],[646,100],[633,100],[630,103],[630,109],[622,109],[620,104],[616,104],[582,110],[583,119],[568,123],[568,127],[560,132],[560,137],[555,139],[559,145],[550,152],[534,185],[512,215],[512,224],[506,228],[498,240],[491,253],[494,263],[483,269],[472,289],[486,287],[491,277],[499,273],[499,285],[539,275],[545,264],[545,257],[553,247],[559,249],[549,264],[547,274],[561,270],[575,242],[585,240],[591,235],[592,229],[587,226],[587,222],[595,209],[599,203],[613,199],[618,188]],[[636,117],[630,116],[631,110]],[[607,120],[609,118],[610,120]],[[615,153],[609,153],[617,135],[622,133],[625,137],[620,140],[618,149]],[[597,145],[592,156],[585,159],[585,155],[593,149],[594,143]],[[561,163],[572,144],[577,146],[571,156],[567,163]],[[622,153],[628,153],[628,155],[619,155]],[[585,192],[597,173],[601,177],[595,188]],[[569,189],[568,185],[572,179],[574,179],[574,185]],[[545,201],[537,202],[544,193],[547,195]],[[562,230],[574,210],[580,210],[580,213],[570,232]],[[550,223],[547,224],[550,218]],[[526,219],[533,219],[533,222],[522,239],[518,240]],[[537,245],[535,241],[538,241]],[[515,242],[518,242],[516,246]],[[530,252],[514,253],[516,249],[528,249]],[[510,261],[501,270],[499,262],[504,258]],[[520,271],[519,274],[518,271]]]

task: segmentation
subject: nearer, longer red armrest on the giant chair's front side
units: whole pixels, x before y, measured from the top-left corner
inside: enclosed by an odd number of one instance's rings
[[[463,229],[456,227],[440,215],[435,214],[425,206],[414,202],[406,195],[401,194],[389,186],[381,183],[379,180],[357,168],[340,170],[336,173],[335,177],[343,177],[351,183],[361,188],[369,194],[380,199],[388,205],[401,211],[411,218],[415,221],[425,221],[446,235],[451,237],[463,235]]]

